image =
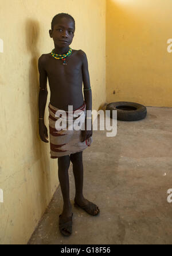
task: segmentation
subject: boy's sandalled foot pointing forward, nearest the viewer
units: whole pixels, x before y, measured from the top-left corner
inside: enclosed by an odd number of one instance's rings
[[[72,216],[72,205],[64,205],[63,211],[59,215],[59,228],[62,235],[69,236],[72,234]]]

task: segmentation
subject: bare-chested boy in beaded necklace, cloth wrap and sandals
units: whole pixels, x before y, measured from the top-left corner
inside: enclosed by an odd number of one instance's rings
[[[82,50],[72,50],[75,32],[75,20],[66,13],[57,14],[52,20],[52,29],[49,35],[54,41],[54,50],[49,54],[42,54],[38,60],[40,72],[39,106],[39,133],[42,141],[48,143],[48,130],[44,124],[44,112],[47,100],[47,78],[50,87],[49,103],[49,135],[51,158],[58,158],[58,179],[64,200],[63,211],[59,216],[61,234],[72,234],[72,205],[69,199],[70,162],[73,165],[75,177],[75,206],[84,209],[95,216],[100,210],[83,196],[83,150],[92,143],[92,120],[88,113],[92,111],[92,92],[89,81],[87,56]],[[82,85],[84,84],[84,98]],[[56,121],[61,116],[56,112],[65,111],[67,116],[68,106],[73,111],[84,113],[85,130],[69,131],[57,130]],[[87,110],[89,110],[87,112]],[[72,111],[72,112],[73,112]],[[77,118],[76,118],[77,119]],[[89,123],[90,122],[90,123]],[[87,130],[87,123],[91,130]]]

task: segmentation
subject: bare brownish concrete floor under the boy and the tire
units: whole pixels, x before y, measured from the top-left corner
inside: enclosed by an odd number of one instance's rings
[[[83,152],[84,197],[99,216],[73,206],[73,234],[58,229],[58,187],[29,244],[172,244],[172,108],[147,107],[137,122],[118,121],[116,137],[93,131]],[[69,168],[73,205],[75,181]]]

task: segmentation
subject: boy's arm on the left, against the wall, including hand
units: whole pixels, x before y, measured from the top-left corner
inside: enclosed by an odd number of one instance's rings
[[[40,93],[38,97],[38,107],[39,107],[39,133],[42,141],[48,143],[48,130],[44,124],[44,114],[45,114],[45,106],[47,100],[47,73],[44,69],[45,65],[45,56],[41,55],[38,59],[38,70],[40,73]]]

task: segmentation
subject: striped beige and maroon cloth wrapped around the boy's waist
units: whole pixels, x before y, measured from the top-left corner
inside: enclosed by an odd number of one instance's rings
[[[74,111],[60,110],[51,103],[48,109],[50,158],[71,155],[83,151],[92,144],[92,136],[82,142],[81,127],[85,127],[85,101],[83,106]]]

